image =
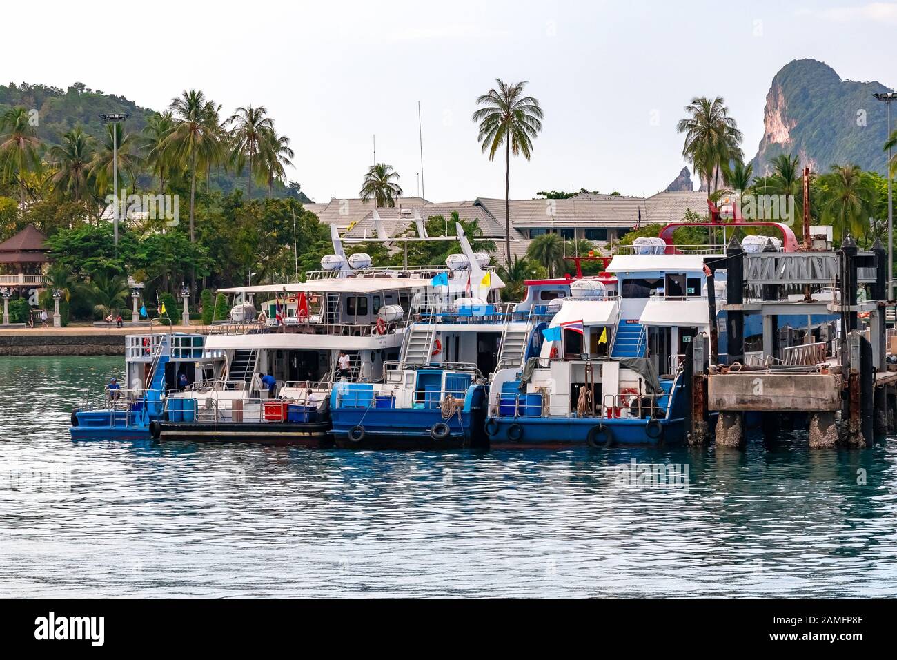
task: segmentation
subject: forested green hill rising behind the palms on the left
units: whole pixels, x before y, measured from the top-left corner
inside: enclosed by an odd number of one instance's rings
[[[142,131],[147,119],[156,113],[156,110],[141,108],[124,96],[91,90],[83,83],[75,83],[67,90],[43,84],[0,85],[0,113],[15,106],[38,110],[38,136],[47,145],[58,144],[59,136],[79,124],[92,136],[100,137],[103,131],[101,113],[129,113],[131,116],[126,121],[128,133]],[[148,175],[138,177],[138,182],[144,188],[152,185]],[[238,176],[234,172],[213,172],[211,183],[213,189],[220,189],[224,194],[235,188],[246,189],[246,177]],[[265,188],[253,189],[254,198],[262,198],[266,194]],[[275,181],[272,194],[276,198],[311,201],[295,182],[283,185],[280,181]]]

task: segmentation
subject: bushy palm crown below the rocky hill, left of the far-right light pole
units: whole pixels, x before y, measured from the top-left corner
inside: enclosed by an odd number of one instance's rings
[[[875,185],[859,165],[832,165],[831,172],[819,177],[823,188],[823,216],[840,220],[840,238],[849,232],[861,236],[864,218],[875,214]]]

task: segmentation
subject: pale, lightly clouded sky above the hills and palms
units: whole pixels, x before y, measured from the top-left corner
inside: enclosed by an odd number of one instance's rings
[[[7,25],[27,26],[4,31],[4,83],[83,82],[155,110],[189,88],[225,112],[264,105],[292,138],[288,177],[317,202],[358,197],[374,136],[406,195],[503,198],[503,160],[481,154],[471,120],[497,77],[528,81],[544,110],[532,159],[511,161],[511,198],[664,189],[685,164],[675,123],[693,96],[725,98],[753,158],[772,77],[793,59],[897,86],[897,2],[36,6],[4,7]]]

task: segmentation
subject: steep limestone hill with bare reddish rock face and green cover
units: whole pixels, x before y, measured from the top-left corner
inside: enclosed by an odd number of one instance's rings
[[[799,155],[802,164],[817,172],[855,163],[884,174],[887,114],[873,93],[889,91],[877,82],[842,80],[831,66],[814,59],[788,63],[766,95],[754,172],[767,173],[767,163],[786,153]],[[892,108],[892,126],[897,126],[897,107]]]

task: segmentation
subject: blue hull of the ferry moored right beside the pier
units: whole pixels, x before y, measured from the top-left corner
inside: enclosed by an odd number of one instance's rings
[[[684,442],[684,418],[658,419],[649,428],[647,419],[619,418],[490,418],[487,422],[492,448],[557,449],[571,446],[680,444]],[[604,430],[592,431],[599,425]],[[589,435],[592,442],[589,443]],[[656,436],[656,437],[654,437]]]

